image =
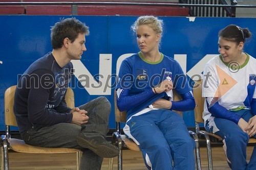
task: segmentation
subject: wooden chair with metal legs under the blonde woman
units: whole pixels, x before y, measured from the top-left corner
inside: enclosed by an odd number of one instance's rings
[[[174,95],[174,101],[181,100],[181,96],[176,92],[175,89],[173,89],[173,95]],[[121,170],[122,169],[122,148],[126,147],[127,149],[130,149],[133,151],[140,151],[140,148],[134,141],[130,140],[125,135],[121,134],[120,123],[126,123],[126,111],[120,112],[118,110],[116,96],[117,96],[116,90],[114,90],[116,132],[114,132],[112,135],[112,137],[113,137],[112,144],[116,144],[116,139],[117,139],[118,148],[120,149],[119,155],[118,155],[118,170]],[[175,112],[177,112],[178,114],[180,114],[182,116],[182,112],[180,112],[180,111],[175,111]],[[201,161],[200,161],[200,150],[199,150],[198,136],[196,133],[194,133],[192,131],[188,131],[188,132],[189,132],[190,136],[192,136],[196,142],[195,152],[196,152],[196,160],[197,160],[197,169],[199,170],[199,169],[201,169]],[[113,168],[113,159],[114,158],[110,158],[109,169]]]

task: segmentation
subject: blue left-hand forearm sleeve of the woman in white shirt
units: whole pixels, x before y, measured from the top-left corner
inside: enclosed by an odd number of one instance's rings
[[[207,102],[207,98],[206,98],[205,101],[206,101],[206,104],[207,104],[208,111],[211,113],[212,116],[219,117],[219,118],[225,118],[225,119],[231,120],[232,122],[238,124],[238,122],[241,118],[240,115],[227,110],[223,106],[219,105],[218,102],[216,102],[211,107],[209,107],[209,103]]]

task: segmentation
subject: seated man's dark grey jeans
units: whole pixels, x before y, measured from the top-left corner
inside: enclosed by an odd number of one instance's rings
[[[79,109],[88,111],[88,124],[82,127],[71,123],[60,123],[52,126],[36,125],[21,133],[23,140],[28,144],[38,147],[79,149],[83,152],[79,167],[80,170],[100,169],[103,158],[89,149],[80,147],[77,144],[77,136],[80,133],[93,131],[105,137],[109,131],[111,104],[108,99],[99,97],[87,104],[79,106]]]

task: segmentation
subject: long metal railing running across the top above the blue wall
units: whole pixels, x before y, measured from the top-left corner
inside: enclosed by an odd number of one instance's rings
[[[190,16],[236,16],[236,8],[256,8],[255,5],[237,5],[235,0],[180,0],[170,3],[125,3],[125,2],[0,2],[1,5],[71,5],[71,15],[77,15],[78,5],[136,5],[136,6],[179,6],[190,10]],[[217,12],[218,11],[218,12]],[[225,15],[226,12],[226,15]]]

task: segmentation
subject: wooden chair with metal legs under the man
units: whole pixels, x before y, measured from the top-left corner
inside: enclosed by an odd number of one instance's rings
[[[13,112],[14,93],[16,86],[11,86],[5,91],[5,125],[6,135],[1,135],[1,169],[9,169],[8,150],[13,150],[22,153],[35,153],[35,154],[64,154],[64,153],[76,153],[76,169],[79,168],[80,163],[80,150],[69,148],[43,148],[35,147],[33,145],[26,144],[24,140],[11,138],[10,126],[16,126],[16,118]],[[74,92],[71,88],[68,88],[65,100],[67,106],[74,108]]]

